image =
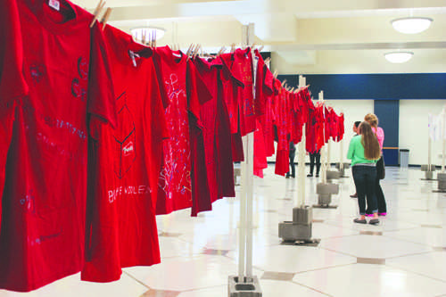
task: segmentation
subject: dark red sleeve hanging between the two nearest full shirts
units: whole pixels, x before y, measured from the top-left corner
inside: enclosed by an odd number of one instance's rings
[[[93,121],[101,120],[112,128],[117,125],[115,96],[111,75],[111,62],[101,25],[91,31],[90,70],[88,75],[88,113]]]

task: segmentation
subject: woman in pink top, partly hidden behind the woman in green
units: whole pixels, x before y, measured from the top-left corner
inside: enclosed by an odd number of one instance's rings
[[[368,113],[364,117],[370,126],[372,127],[373,132],[378,139],[379,146],[381,148],[381,158],[376,162],[376,181],[375,181],[375,192],[376,192],[376,201],[378,203],[378,214],[380,216],[387,215],[387,204],[385,203],[384,192],[381,185],[379,185],[379,179],[384,178],[384,159],[383,159],[383,144],[384,144],[384,130],[383,128],[378,127],[378,118],[374,113]],[[368,209],[369,210],[369,209]],[[368,212],[368,216],[371,216],[370,211]]]

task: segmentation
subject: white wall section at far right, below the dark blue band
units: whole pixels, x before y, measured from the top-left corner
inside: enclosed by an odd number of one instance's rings
[[[439,114],[445,104],[446,100],[400,101],[400,148],[409,149],[409,164],[427,164],[427,114]],[[442,142],[432,144],[432,162],[441,165]]]

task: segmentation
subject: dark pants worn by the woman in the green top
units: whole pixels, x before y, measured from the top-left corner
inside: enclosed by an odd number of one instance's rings
[[[371,213],[378,211],[376,202],[376,167],[356,165],[352,168],[353,179],[358,193],[359,214],[366,214],[366,197],[368,210]]]

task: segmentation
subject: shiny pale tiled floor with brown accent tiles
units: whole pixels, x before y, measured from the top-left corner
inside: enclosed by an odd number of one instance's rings
[[[419,169],[387,168],[382,182],[388,216],[379,226],[352,222],[358,214],[351,178],[338,183],[336,209],[314,209],[318,246],[280,244],[278,223],[292,219],[296,180],[272,167],[255,179],[253,267],[263,296],[446,296],[446,194],[423,181]],[[349,172],[350,174],[350,172]],[[306,177],[306,203],[317,202],[318,178]],[[240,190],[240,189],[238,189]],[[189,210],[158,218],[162,262],[127,268],[111,284],[66,277],[32,293],[13,296],[227,296],[227,277],[237,273],[238,199],[190,218]]]

